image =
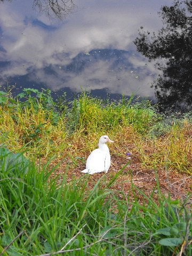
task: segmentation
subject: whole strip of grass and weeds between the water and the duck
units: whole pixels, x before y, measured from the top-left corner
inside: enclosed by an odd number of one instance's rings
[[[33,96],[36,96],[34,98]],[[2,95],[0,106],[1,144],[29,158],[66,159],[65,167],[79,166],[82,157],[97,147],[98,138],[108,134],[114,145],[112,157],[130,152],[143,167],[191,174],[191,113],[158,114],[149,101],[133,99],[108,102],[82,94],[73,102],[54,103],[49,92],[26,89],[23,102]]]

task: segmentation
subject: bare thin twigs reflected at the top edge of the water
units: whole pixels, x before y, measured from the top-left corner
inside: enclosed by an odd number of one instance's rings
[[[5,1],[12,2],[12,0],[0,0],[0,2]],[[40,12],[45,12],[49,17],[54,14],[62,20],[73,11],[75,3],[74,0],[33,0],[33,7],[37,8]]]

